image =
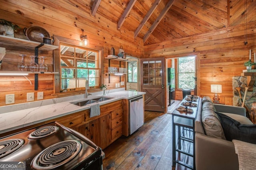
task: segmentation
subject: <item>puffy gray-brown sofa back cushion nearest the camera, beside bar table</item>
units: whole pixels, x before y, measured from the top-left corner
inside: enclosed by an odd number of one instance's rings
[[[202,124],[205,134],[219,139],[226,139],[222,125],[216,113],[212,102],[204,101],[202,106]]]

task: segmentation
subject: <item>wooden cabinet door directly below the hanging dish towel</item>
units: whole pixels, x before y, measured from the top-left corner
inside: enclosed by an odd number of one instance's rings
[[[90,138],[97,146],[100,146],[100,118],[90,121]]]

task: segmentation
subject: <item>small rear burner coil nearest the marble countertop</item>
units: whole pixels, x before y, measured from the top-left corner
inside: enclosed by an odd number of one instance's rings
[[[57,127],[57,126],[44,126],[39,129],[36,129],[32,133],[30,133],[28,135],[28,138],[29,139],[39,139],[42,137],[47,137],[49,135],[52,135],[53,133],[55,133],[58,130],[59,130],[59,127]]]

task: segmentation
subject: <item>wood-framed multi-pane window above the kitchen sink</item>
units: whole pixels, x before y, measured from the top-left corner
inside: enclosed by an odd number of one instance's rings
[[[61,90],[80,90],[88,80],[90,88],[100,86],[99,51],[60,44]]]

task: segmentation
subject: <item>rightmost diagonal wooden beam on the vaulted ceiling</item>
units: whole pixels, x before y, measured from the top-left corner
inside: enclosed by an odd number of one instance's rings
[[[162,12],[160,13],[160,15],[156,18],[156,20],[154,21],[154,23],[151,25],[150,29],[148,30],[148,32],[144,35],[143,37],[143,43],[146,42],[146,40],[148,39],[148,37],[150,36],[150,34],[154,31],[154,29],[156,28],[156,26],[158,25],[158,23],[164,18],[164,15],[168,12],[168,10],[172,7],[172,4],[174,3],[175,0],[170,0],[168,2],[168,4],[166,4],[165,8],[162,10]]]

